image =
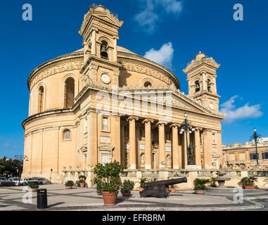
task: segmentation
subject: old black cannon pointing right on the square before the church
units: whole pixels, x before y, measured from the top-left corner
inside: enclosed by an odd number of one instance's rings
[[[168,186],[180,183],[186,183],[186,177],[165,181],[155,181],[144,184],[144,190],[140,191],[140,195],[143,198],[156,197],[156,198],[167,198],[168,197]]]

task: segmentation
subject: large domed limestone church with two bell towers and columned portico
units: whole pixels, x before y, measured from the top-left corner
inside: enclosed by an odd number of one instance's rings
[[[186,95],[170,70],[117,46],[122,24],[89,7],[83,48],[30,74],[23,177],[92,179],[96,164],[114,161],[132,172],[222,167],[219,64],[198,53],[184,69]]]

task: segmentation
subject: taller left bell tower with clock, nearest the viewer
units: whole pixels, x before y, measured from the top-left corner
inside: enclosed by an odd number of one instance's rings
[[[102,82],[118,85],[121,65],[117,63],[118,30],[123,21],[104,6],[90,6],[79,34],[83,37],[82,86]]]

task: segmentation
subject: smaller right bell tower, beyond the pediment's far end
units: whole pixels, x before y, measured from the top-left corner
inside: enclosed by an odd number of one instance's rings
[[[184,69],[189,82],[189,96],[215,112],[219,112],[220,96],[216,85],[216,70],[219,66],[213,58],[207,58],[205,53],[199,52]]]

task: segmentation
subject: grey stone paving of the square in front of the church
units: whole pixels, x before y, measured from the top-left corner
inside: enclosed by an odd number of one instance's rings
[[[0,210],[38,210],[37,193],[32,193],[32,203],[23,203],[23,186],[0,187]],[[186,211],[186,210],[264,210],[268,203],[268,191],[244,190],[243,203],[234,203],[230,189],[211,189],[205,195],[196,195],[192,190],[170,193],[169,198],[141,198],[138,191],[132,191],[130,198],[118,194],[113,207],[103,205],[103,198],[95,188],[67,190],[63,184],[40,186],[46,188],[48,205],[46,210],[118,210],[118,211]],[[257,199],[256,201],[253,201]]]

